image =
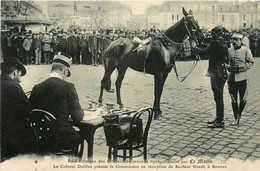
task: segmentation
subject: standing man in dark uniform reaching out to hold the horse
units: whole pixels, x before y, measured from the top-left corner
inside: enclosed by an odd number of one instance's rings
[[[209,128],[224,128],[224,101],[223,90],[227,80],[225,62],[228,56],[228,46],[223,39],[223,30],[220,26],[212,29],[212,42],[208,48],[199,49],[194,47],[196,53],[208,53],[209,67],[206,74],[210,77],[211,89],[216,103],[216,118],[208,121]]]

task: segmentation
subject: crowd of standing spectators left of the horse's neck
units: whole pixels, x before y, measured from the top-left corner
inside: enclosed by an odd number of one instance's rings
[[[55,29],[46,33],[6,32],[2,34],[4,56],[17,56],[25,65],[50,64],[57,52],[69,54],[73,64],[97,66],[102,64],[102,56],[108,45],[120,38],[140,39],[160,35],[159,30],[147,31],[99,30],[85,32],[78,30],[65,32]]]

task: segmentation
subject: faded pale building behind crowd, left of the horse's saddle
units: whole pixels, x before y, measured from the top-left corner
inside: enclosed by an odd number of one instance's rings
[[[48,15],[54,23],[54,28],[68,29],[72,25],[77,25],[86,30],[98,30],[129,28],[132,12],[120,2],[49,1]]]

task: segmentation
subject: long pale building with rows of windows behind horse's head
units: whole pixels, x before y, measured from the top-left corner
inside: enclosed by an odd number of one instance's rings
[[[147,29],[157,26],[166,30],[183,17],[182,7],[193,11],[201,28],[212,29],[216,25],[230,30],[260,28],[259,1],[169,1],[147,10]]]

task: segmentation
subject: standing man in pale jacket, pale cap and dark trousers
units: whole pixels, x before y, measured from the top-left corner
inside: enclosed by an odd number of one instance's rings
[[[242,45],[242,34],[233,34],[233,46],[228,49],[229,64],[228,70],[230,71],[228,77],[228,90],[231,96],[232,109],[235,121],[232,126],[238,125],[241,114],[246,105],[247,98],[247,84],[248,76],[247,70],[253,66],[254,60],[252,53],[248,47]],[[237,95],[239,93],[240,103],[238,105]]]

